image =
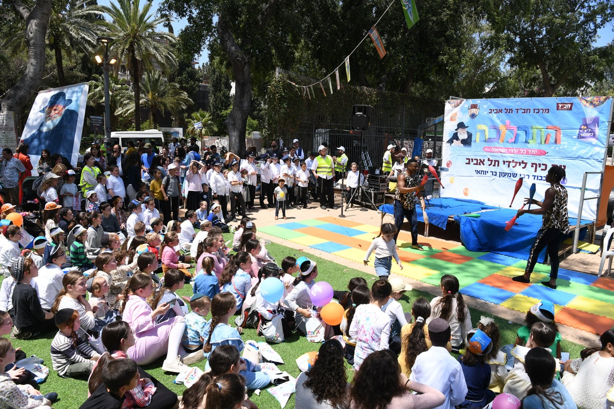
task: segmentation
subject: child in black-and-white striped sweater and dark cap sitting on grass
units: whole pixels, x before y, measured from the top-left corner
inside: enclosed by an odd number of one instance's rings
[[[91,348],[87,338],[77,335],[79,313],[70,308],[59,310],[55,314],[55,325],[60,330],[51,341],[53,370],[63,378],[87,377],[100,355]]]

